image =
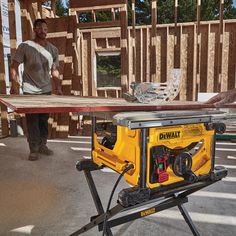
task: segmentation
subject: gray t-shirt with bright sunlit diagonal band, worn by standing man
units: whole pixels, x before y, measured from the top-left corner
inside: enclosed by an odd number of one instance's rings
[[[51,68],[58,67],[58,49],[47,42],[43,47],[28,40],[19,45],[13,58],[24,63],[23,92],[30,94],[49,93],[51,86]]]

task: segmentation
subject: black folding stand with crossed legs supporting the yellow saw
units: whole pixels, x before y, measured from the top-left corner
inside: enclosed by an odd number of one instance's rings
[[[216,167],[215,170],[209,176],[204,176],[204,179],[197,183],[187,184],[183,181],[181,183],[168,186],[168,188],[163,187],[153,189],[150,195],[150,200],[129,207],[124,207],[120,203],[118,203],[116,206],[111,208],[106,214],[104,212],[104,208],[102,206],[99,194],[97,192],[97,188],[95,186],[91,174],[91,171],[101,169],[101,167],[98,167],[96,164],[94,164],[92,160],[82,160],[77,163],[76,168],[79,171],[84,171],[98,215],[91,217],[90,223],[84,225],[79,230],[72,233],[70,236],[82,234],[95,226],[98,226],[98,230],[102,231],[105,216],[107,218],[106,235],[112,236],[113,234],[111,232],[111,228],[114,226],[121,225],[129,221],[142,218],[175,206],[178,206],[182,216],[184,217],[184,220],[188,224],[193,235],[200,236],[200,233],[196,229],[191,217],[189,216],[183,204],[188,202],[188,195],[221,180],[227,175],[227,169],[225,169],[224,167]],[[150,204],[154,205],[150,207]],[[138,209],[140,207],[142,207],[141,210],[138,210],[135,213],[128,213],[129,210]],[[121,212],[127,213],[124,216],[109,220]]]

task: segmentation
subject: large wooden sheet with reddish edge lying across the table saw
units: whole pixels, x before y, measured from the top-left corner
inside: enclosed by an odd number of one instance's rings
[[[1,95],[0,103],[17,113],[162,111],[215,108],[213,104],[191,101],[159,101],[143,104],[127,102],[122,98],[57,95]],[[228,104],[224,107],[236,108],[236,104]]]

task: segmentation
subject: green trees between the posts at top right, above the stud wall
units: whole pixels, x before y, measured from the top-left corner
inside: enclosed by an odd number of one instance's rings
[[[151,24],[151,0],[136,1],[136,24]],[[167,24],[174,22],[174,0],[157,0],[158,24]],[[178,22],[196,21],[197,0],[179,0]],[[201,1],[201,20],[218,20],[220,13],[219,0]],[[233,6],[233,0],[224,1],[224,19],[235,19],[236,8]]]

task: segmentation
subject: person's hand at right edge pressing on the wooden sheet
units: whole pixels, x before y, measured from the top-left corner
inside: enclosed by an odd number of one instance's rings
[[[206,103],[215,104],[216,106],[221,106],[226,103],[232,103],[236,101],[236,89],[231,89],[226,92],[221,92],[210,98]]]

